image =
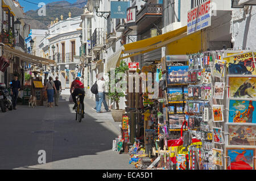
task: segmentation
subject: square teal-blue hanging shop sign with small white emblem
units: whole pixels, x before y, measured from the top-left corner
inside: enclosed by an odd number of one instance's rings
[[[127,1],[112,1],[110,18],[125,19],[127,7]]]

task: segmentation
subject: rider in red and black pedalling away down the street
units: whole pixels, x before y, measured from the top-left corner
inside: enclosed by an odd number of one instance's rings
[[[72,91],[73,91],[73,93],[72,93]],[[82,118],[84,118],[84,96],[85,96],[85,91],[84,91],[84,84],[80,81],[79,77],[77,77],[75,79],[75,81],[72,82],[70,93],[72,95],[73,102],[75,103],[75,106],[73,107],[73,110],[75,110],[76,107],[77,107],[76,96],[81,94],[79,96],[80,96],[80,102],[81,102],[81,105],[82,105]]]

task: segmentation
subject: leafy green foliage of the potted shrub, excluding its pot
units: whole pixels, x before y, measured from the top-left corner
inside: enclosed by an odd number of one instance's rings
[[[118,73],[125,73],[127,70],[129,70],[129,66],[126,64],[125,61],[121,61],[119,67],[115,68],[115,77]],[[111,80],[110,77],[110,71],[108,72],[109,80]],[[122,77],[117,79],[115,78],[114,81],[109,81],[109,98],[114,100],[114,102],[117,104],[117,110],[119,110],[119,100],[120,98],[125,96],[125,93],[121,91],[123,88],[120,86],[119,88],[116,86],[117,83],[121,83],[122,85]],[[114,87],[114,91],[111,89]]]

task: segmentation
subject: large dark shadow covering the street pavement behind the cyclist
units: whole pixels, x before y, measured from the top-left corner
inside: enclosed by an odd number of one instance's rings
[[[18,106],[18,110],[0,113],[0,169],[38,165],[39,150],[46,151],[49,163],[112,149],[118,135],[105,124],[108,121],[97,122],[90,112],[79,123],[71,112],[73,104],[65,100],[59,107]],[[92,110],[85,104],[87,109]]]

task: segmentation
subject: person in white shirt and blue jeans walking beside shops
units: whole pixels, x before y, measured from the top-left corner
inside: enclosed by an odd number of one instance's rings
[[[98,81],[98,100],[96,99],[96,111],[97,113],[101,113],[101,104],[104,104],[105,110],[110,111],[108,104],[106,103],[106,98],[105,98],[105,80],[103,76],[100,76]]]

